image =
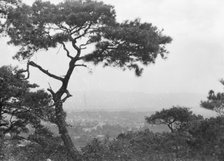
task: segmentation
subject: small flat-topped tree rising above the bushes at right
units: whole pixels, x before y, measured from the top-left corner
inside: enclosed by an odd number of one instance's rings
[[[149,124],[155,124],[157,121],[159,124],[165,124],[171,132],[175,132],[186,130],[190,126],[191,121],[203,119],[203,117],[193,114],[189,108],[172,107],[157,111],[145,119]]]

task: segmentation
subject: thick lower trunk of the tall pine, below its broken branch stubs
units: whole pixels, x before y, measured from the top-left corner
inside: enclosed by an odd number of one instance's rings
[[[63,102],[57,101],[55,104],[55,112],[56,112],[56,124],[59,129],[59,134],[61,135],[61,139],[64,142],[64,146],[66,147],[72,161],[81,161],[81,155],[79,151],[75,148],[71,137],[68,134],[67,124],[65,121],[65,112],[63,111]]]

